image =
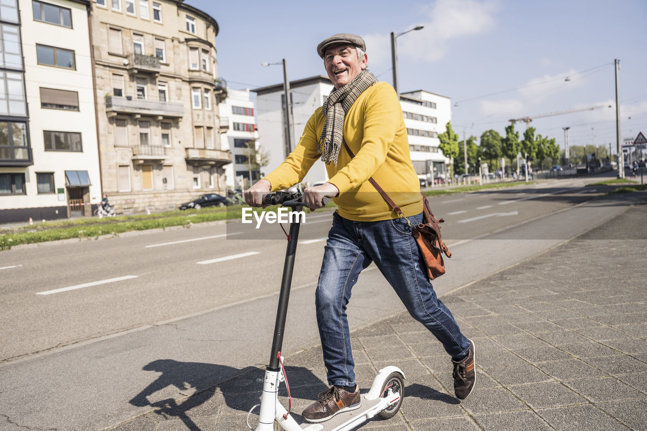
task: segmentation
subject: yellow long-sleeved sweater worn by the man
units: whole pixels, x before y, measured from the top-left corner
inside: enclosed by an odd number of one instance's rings
[[[303,180],[319,159],[317,142],[325,116],[318,108],[310,117],[303,136],[285,162],[265,179],[272,192],[289,188]],[[413,170],[402,108],[391,85],[378,82],[360,94],[344,120],[344,139],[355,157],[351,159],[342,145],[337,166],[327,164],[329,180],[339,189],[333,201],[338,213],[353,221],[378,221],[397,218],[369,177],[400,207],[405,216],[422,212],[420,182]]]

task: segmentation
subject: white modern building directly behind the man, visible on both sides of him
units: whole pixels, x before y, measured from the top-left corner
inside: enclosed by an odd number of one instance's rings
[[[313,76],[290,83],[291,136],[290,151],[298,144],[305,123],[320,107],[333,90],[326,76]],[[263,147],[270,151],[267,171],[276,168],[289,153],[285,143],[285,92],[283,84],[270,85],[252,90],[256,96],[256,117],[259,137]],[[445,175],[450,160],[439,150],[439,133],[452,118],[450,98],[418,90],[400,94],[400,105],[407,128],[411,161],[420,178],[430,180]],[[317,162],[307,173],[304,182],[327,181],[325,165]]]

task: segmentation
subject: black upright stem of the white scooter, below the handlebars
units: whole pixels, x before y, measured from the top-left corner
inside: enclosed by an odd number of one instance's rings
[[[299,211],[302,207],[292,208],[293,211]],[[287,305],[290,299],[290,287],[292,286],[292,270],[294,269],[294,257],[296,255],[296,244],[299,239],[300,217],[294,217],[290,225],[290,241],[287,243],[285,252],[285,263],[283,265],[283,280],[281,280],[281,293],[279,295],[279,305],[276,311],[276,323],[274,324],[274,339],[272,340],[272,355],[267,370],[279,371],[280,364],[278,353],[283,346],[283,333],[285,332],[285,318],[287,316]]]

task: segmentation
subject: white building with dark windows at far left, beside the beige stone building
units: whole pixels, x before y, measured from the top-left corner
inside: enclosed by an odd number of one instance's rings
[[[3,0],[0,221],[89,216],[101,201],[89,7]]]

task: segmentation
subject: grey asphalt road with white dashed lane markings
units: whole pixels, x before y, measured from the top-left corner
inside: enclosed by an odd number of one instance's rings
[[[454,253],[434,283],[438,293],[626,208],[620,197],[594,199],[602,190],[584,185],[599,179],[430,199]],[[314,212],[302,227],[285,355],[318,343],[313,291],[330,219]],[[138,393],[150,403],[178,398],[267,363],[286,242],[276,225],[253,229],[208,223],[0,253],[0,429],[3,417],[34,428],[102,429],[150,410],[135,405]],[[241,239],[250,230],[261,239]],[[403,309],[374,270],[353,290],[353,328]],[[188,364],[195,379],[147,390],[160,360]]]

